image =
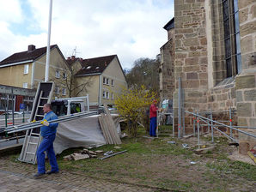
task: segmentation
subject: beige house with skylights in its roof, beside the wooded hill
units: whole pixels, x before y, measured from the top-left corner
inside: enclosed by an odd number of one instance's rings
[[[76,89],[76,95],[89,94],[90,105],[113,105],[115,96],[127,87],[125,74],[117,55],[76,59],[82,69],[76,73],[76,87],[88,83],[87,90]]]

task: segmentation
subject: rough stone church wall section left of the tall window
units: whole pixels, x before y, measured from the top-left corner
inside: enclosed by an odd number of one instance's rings
[[[186,110],[207,110],[208,58],[204,0],[175,0],[174,130],[178,130],[178,88],[182,79]],[[192,129],[186,119],[186,129]],[[189,130],[188,130],[189,131]]]

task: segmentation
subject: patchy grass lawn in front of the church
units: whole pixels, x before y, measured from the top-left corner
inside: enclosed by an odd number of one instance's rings
[[[162,132],[172,133],[165,126]],[[136,183],[155,186],[162,189],[180,189],[185,191],[253,191],[256,182],[256,167],[227,158],[235,147],[229,147],[225,138],[215,138],[216,147],[207,153],[196,154],[195,138],[180,139],[170,135],[159,138],[144,138],[141,128],[137,138],[122,139],[120,149],[114,145],[93,148],[107,152],[127,150],[108,159],[82,159],[65,161],[65,155],[82,150],[72,148],[58,155],[61,170],[76,171],[88,177],[99,177],[123,183]],[[206,145],[209,137],[202,137]],[[169,144],[168,141],[175,141]],[[182,147],[182,143],[191,148]],[[209,142],[210,143],[210,142]],[[195,162],[192,164],[191,162]]]

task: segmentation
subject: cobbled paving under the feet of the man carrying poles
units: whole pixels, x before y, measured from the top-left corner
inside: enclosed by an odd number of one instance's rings
[[[116,183],[71,171],[60,171],[58,174],[46,175],[34,179],[36,166],[24,163],[14,163],[9,159],[0,158],[0,192],[31,191],[31,192],[55,192],[55,191],[117,191],[137,192],[154,191],[155,189],[137,186],[127,183]]]

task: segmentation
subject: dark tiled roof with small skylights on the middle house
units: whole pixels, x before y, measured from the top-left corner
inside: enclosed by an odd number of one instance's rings
[[[117,55],[83,59],[82,69],[76,73],[76,76],[102,73],[114,57],[117,57]]]

